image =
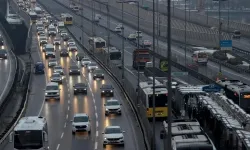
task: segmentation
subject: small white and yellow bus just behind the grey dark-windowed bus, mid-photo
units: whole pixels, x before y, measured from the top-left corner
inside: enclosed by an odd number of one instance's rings
[[[89,38],[90,50],[100,52],[106,47],[106,41],[101,37],[91,37]]]

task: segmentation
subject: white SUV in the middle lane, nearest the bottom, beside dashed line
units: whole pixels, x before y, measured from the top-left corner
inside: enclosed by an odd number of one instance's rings
[[[72,134],[77,131],[87,131],[91,133],[91,124],[89,116],[86,113],[77,113],[74,115],[72,122]]]

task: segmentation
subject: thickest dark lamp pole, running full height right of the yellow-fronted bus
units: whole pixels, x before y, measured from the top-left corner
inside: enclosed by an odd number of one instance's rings
[[[172,124],[172,78],[171,78],[171,0],[168,0],[168,150],[172,149],[172,142],[171,142],[171,137],[172,137],[172,129],[171,129],[171,124]]]

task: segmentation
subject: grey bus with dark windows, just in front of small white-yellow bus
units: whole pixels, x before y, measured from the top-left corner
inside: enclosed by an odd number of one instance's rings
[[[122,53],[119,49],[116,47],[109,47],[109,49],[106,47],[103,49],[103,53],[106,56],[109,54],[109,61],[113,63],[117,67],[122,67]]]

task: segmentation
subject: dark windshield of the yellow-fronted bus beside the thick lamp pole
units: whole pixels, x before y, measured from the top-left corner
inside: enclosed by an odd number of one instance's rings
[[[153,94],[148,96],[149,107],[153,107]],[[155,95],[155,107],[166,107],[168,105],[168,96],[166,94]]]

